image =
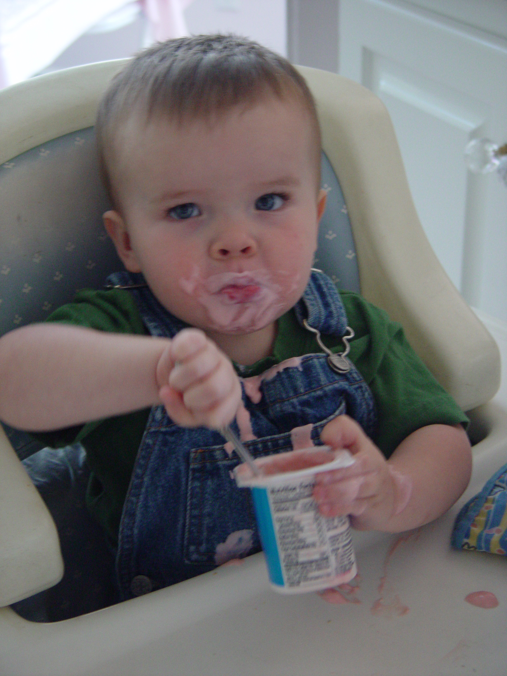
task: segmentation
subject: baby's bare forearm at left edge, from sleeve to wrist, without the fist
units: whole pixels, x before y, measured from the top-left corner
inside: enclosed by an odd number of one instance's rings
[[[167,339],[32,324],[0,339],[0,419],[59,429],[160,403]]]

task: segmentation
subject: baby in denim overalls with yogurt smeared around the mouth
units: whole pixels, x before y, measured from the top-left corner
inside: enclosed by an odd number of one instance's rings
[[[312,270],[320,131],[291,64],[231,36],[159,43],[110,84],[97,140],[126,271],[0,340],[0,418],[84,445],[122,598],[260,548],[231,421],[256,457],[353,454],[318,477],[325,516],[393,532],[448,510],[470,477],[466,417],[399,324]],[[347,327],[340,372],[315,333],[343,352]]]

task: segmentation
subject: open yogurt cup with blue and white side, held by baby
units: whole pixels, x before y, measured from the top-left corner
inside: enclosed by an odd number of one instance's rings
[[[234,470],[239,487],[251,489],[270,584],[282,594],[318,592],[357,575],[349,517],[327,518],[312,492],[315,475],[354,463],[348,451],[315,446],[255,460]]]

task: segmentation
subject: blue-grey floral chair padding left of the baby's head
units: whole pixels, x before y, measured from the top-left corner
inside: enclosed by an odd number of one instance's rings
[[[44,320],[76,289],[120,270],[102,223],[93,129],[73,132],[0,166],[0,335]]]

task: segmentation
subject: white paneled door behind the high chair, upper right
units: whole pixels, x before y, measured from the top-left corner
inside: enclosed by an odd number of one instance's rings
[[[468,172],[463,153],[470,139],[507,141],[507,39],[414,3],[341,0],[339,69],[387,106],[420,220],[454,285],[506,321],[507,188],[497,174]]]

